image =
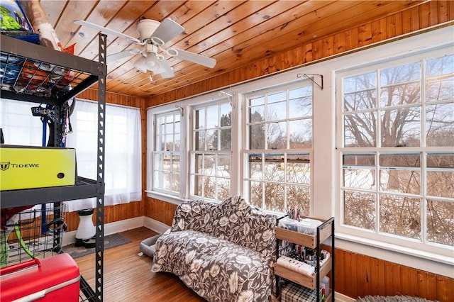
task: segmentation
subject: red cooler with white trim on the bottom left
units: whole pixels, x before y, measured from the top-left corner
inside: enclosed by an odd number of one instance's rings
[[[79,301],[79,267],[68,254],[0,269],[0,301]]]

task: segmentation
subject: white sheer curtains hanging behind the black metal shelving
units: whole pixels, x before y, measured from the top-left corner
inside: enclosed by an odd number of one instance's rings
[[[32,116],[31,107],[22,101],[1,99],[0,127],[5,143],[9,145],[42,145],[42,123]],[[96,180],[97,104],[77,100],[70,117],[73,133],[67,135],[67,147],[74,147],[77,156],[77,174]],[[140,201],[142,199],[142,148],[140,110],[124,106],[106,105],[105,118],[106,191],[104,204]],[[96,198],[67,203],[67,211],[94,208]]]

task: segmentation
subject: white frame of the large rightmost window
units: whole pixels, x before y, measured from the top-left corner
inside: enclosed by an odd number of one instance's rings
[[[430,33],[429,33],[430,35]],[[423,40],[423,37],[419,38],[420,40]],[[417,38],[414,39],[415,43],[418,40]],[[408,41],[407,41],[408,42]],[[442,44],[442,45],[440,45]],[[421,49],[414,48],[414,50],[411,50],[411,44],[408,43],[403,49],[406,49],[404,53],[396,53],[394,55],[391,55],[389,57],[376,57],[375,60],[370,60],[368,62],[367,59],[362,60],[363,62],[355,62],[354,65],[351,65],[350,67],[347,67],[345,69],[338,69],[336,70],[335,74],[335,86],[336,86],[336,116],[337,118],[337,131],[336,131],[336,146],[338,148],[338,153],[337,153],[337,162],[338,164],[336,165],[337,169],[337,179],[336,181],[336,200],[338,202],[336,203],[336,234],[339,234],[338,236],[345,239],[349,240],[351,242],[360,242],[364,245],[371,245],[375,247],[382,247],[384,250],[388,251],[394,251],[394,252],[402,252],[404,255],[410,255],[412,257],[426,257],[426,259],[431,259],[436,262],[440,263],[447,263],[450,265],[454,264],[453,260],[453,252],[454,252],[454,247],[452,246],[446,246],[446,245],[440,245],[436,244],[433,242],[426,242],[424,244],[421,243],[421,240],[413,240],[413,239],[405,239],[404,237],[397,236],[397,235],[385,235],[385,234],[378,234],[375,233],[374,231],[367,231],[361,228],[355,228],[349,225],[343,225],[343,197],[342,197],[342,179],[343,179],[343,169],[342,169],[342,155],[343,152],[375,152],[377,151],[377,154],[380,154],[380,152],[404,152],[406,154],[409,153],[423,153],[425,152],[444,152],[444,151],[450,151],[452,152],[452,147],[404,147],[403,148],[396,148],[396,147],[355,147],[355,148],[344,148],[341,147],[343,146],[343,88],[342,88],[342,80],[343,77],[351,77],[353,75],[357,74],[363,74],[368,71],[375,71],[375,69],[384,69],[387,67],[394,67],[398,65],[404,65],[408,64],[411,62],[419,62],[419,60],[422,59],[429,59],[429,58],[435,58],[435,57],[441,57],[447,52],[452,53],[452,45],[451,43],[450,46],[446,46],[445,44],[448,43],[433,43],[433,45],[428,44],[428,46],[422,47]],[[384,46],[386,47],[386,46]],[[416,50],[415,50],[416,49]],[[377,47],[375,50],[368,50],[366,52],[370,52],[372,55],[370,57],[373,57],[374,54],[377,54],[377,52],[380,51],[380,47]],[[367,55],[364,55],[363,57],[369,57]],[[373,62],[372,62],[373,61]],[[358,66],[358,64],[362,64],[362,66]],[[422,76],[421,76],[422,77]],[[421,87],[422,88],[422,87]],[[419,104],[414,104],[414,106],[422,106],[422,94],[424,93],[424,89],[421,89],[421,103]],[[378,97],[378,96],[377,96]],[[377,109],[375,109],[376,111]],[[421,113],[421,116],[423,116],[423,113]],[[377,117],[380,118],[380,117]],[[424,127],[424,125],[422,125]],[[380,131],[380,129],[377,129]],[[421,133],[423,135],[424,133],[424,128],[421,128]],[[377,135],[378,140],[381,139],[380,133]],[[424,143],[421,141],[421,143]],[[423,159],[422,159],[423,160]],[[376,167],[380,166],[378,163],[376,164]],[[425,169],[423,167],[418,168],[421,170],[421,174],[425,173]],[[423,199],[421,202],[424,202]],[[425,215],[425,213],[421,212],[421,216]],[[425,231],[425,228],[421,226],[421,233]],[[423,235],[421,234],[421,237]],[[353,245],[350,245],[353,246]],[[357,245],[358,246],[358,245]]]

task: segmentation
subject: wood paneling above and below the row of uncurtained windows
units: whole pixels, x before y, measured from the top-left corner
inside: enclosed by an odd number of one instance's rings
[[[147,99],[147,106],[184,99],[284,69],[341,55],[375,43],[387,43],[389,40],[402,38],[402,35],[412,34],[442,23],[443,26],[452,26],[453,19],[454,1],[429,1],[412,9],[270,55],[234,72],[219,74],[204,82],[184,86],[166,94],[151,96]],[[145,216],[170,225],[175,209],[176,206],[171,203],[147,198]],[[335,265],[336,291],[345,296],[358,298],[366,295],[409,295],[441,302],[453,301],[454,279],[445,276],[339,249],[336,249]]]

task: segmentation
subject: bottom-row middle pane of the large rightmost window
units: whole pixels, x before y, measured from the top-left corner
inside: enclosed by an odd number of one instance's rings
[[[421,200],[380,194],[380,231],[421,239]]]

